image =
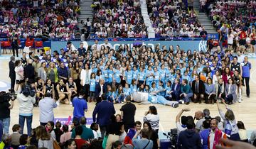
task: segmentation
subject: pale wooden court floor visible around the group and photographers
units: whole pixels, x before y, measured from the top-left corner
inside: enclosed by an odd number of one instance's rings
[[[1,57],[1,56],[0,56]],[[251,78],[250,78],[250,98],[245,96],[245,88],[243,89],[243,101],[242,103],[236,103],[231,105],[230,107],[235,112],[235,118],[237,121],[243,121],[245,123],[245,128],[249,131],[256,130],[256,59],[249,59],[252,63],[251,70]],[[10,83],[9,79],[9,67],[8,67],[9,59],[0,60],[0,82]],[[175,118],[176,114],[183,108],[190,108],[191,111],[183,113],[184,115],[194,116],[195,111],[203,110],[205,108],[210,109],[210,116],[215,117],[219,116],[218,109],[216,104],[189,104],[189,105],[180,105],[178,108],[174,109],[170,106],[164,106],[160,104],[154,104],[158,110],[160,116],[160,128],[159,131],[169,131],[170,128],[175,128]],[[114,108],[116,109],[116,114],[120,114],[119,109],[122,104],[114,104]],[[143,121],[144,111],[148,110],[150,105],[138,105],[137,111],[135,115],[136,121]],[[223,110],[225,110],[224,106],[221,106]],[[92,118],[92,111],[95,108],[95,103],[88,103],[88,111],[85,113],[87,118]],[[0,109],[1,111],[1,109]],[[55,118],[68,118],[68,116],[72,116],[73,114],[73,106],[63,105],[61,104],[55,110]],[[14,109],[11,110],[11,127],[18,123],[18,102],[14,102]],[[38,126],[39,123],[39,109],[38,107],[33,109],[33,128]],[[26,132],[26,125],[24,128]]]

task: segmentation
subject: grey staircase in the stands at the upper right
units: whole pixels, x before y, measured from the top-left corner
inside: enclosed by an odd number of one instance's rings
[[[206,28],[207,33],[217,33],[216,29],[213,28],[213,24],[211,23],[206,13],[199,12],[200,10],[200,2],[199,0],[193,1],[193,9],[196,11],[198,16],[198,21],[201,23],[203,27]]]

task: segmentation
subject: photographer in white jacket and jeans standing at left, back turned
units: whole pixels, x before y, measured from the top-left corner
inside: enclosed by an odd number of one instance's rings
[[[17,96],[19,103],[19,119],[18,124],[21,126],[21,134],[23,134],[23,128],[25,119],[27,122],[28,136],[31,136],[31,124],[33,118],[33,104],[36,103],[36,92],[28,85],[23,85],[21,94]]]

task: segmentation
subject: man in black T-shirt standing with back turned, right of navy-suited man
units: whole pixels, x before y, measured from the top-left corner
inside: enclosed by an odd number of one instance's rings
[[[136,112],[136,106],[132,104],[131,102],[131,96],[127,96],[126,98],[126,104],[124,104],[120,111],[122,120],[124,122],[124,131],[128,132],[129,128],[132,128],[134,126],[134,116]]]

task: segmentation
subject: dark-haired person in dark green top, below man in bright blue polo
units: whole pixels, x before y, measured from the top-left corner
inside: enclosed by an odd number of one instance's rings
[[[80,135],[80,137],[83,140],[88,140],[89,141],[89,140],[94,138],[92,129],[86,127],[86,118],[85,118],[85,116],[82,116],[80,118],[80,126],[82,126],[82,134]],[[76,133],[75,133],[75,130],[73,130],[71,138],[75,138],[75,136],[76,136]]]

